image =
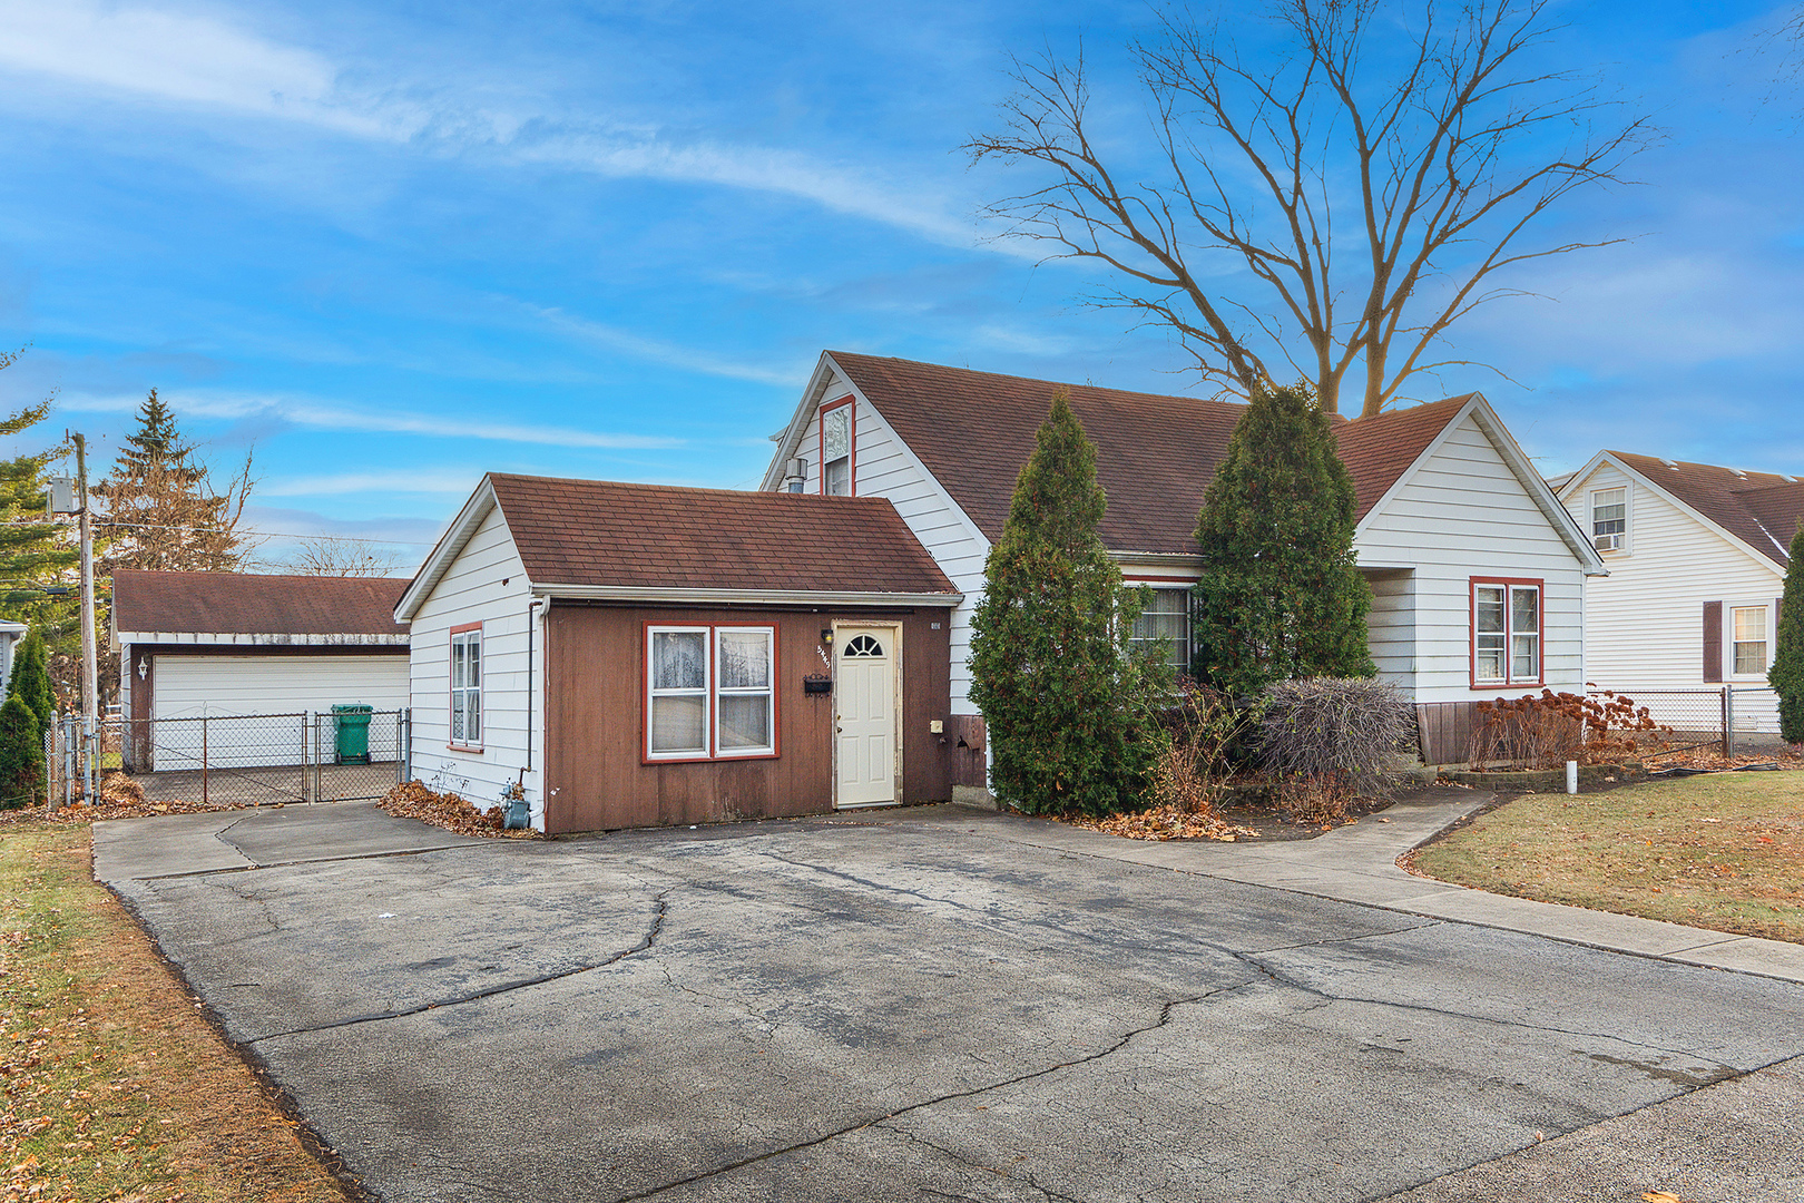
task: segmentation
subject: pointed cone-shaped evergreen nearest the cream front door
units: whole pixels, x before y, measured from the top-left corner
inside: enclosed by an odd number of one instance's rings
[[[996,794],[1028,813],[1146,804],[1173,687],[1158,646],[1133,646],[1146,590],[1122,584],[1097,525],[1097,447],[1061,390],[1016,482],[972,617],[971,700]]]

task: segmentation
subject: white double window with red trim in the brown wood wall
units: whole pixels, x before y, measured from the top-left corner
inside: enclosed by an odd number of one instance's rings
[[[776,628],[646,628],[646,759],[776,756]]]

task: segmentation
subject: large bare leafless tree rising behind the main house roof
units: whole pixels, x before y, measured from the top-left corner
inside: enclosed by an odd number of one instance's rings
[[[1523,292],[1499,272],[1620,242],[1524,240],[1573,191],[1618,182],[1652,135],[1535,63],[1548,0],[1470,0],[1445,20],[1432,0],[1270,0],[1266,16],[1281,45],[1254,60],[1185,9],[1131,47],[1153,180],[1091,117],[1081,54],[1016,60],[1001,132],[965,150],[1052,179],[987,213],[1126,278],[1091,301],[1176,330],[1225,391],[1270,384],[1283,361],[1339,413],[1362,366],[1362,415],[1468,363],[1436,344]]]

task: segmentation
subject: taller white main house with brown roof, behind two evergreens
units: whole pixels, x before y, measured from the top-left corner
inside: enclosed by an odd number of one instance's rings
[[[1243,406],[826,352],[778,442],[767,491],[884,496],[963,602],[953,712],[969,700],[971,615],[1016,476],[1055,390],[1095,440],[1104,543],[1155,588],[1144,635],[1189,644],[1203,491]],[[1586,579],[1604,563],[1472,393],[1337,426],[1358,492],[1355,546],[1373,584],[1371,649],[1418,703],[1578,689]]]

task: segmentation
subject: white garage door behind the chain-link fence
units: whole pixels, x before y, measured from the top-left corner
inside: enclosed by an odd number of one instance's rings
[[[408,705],[408,657],[157,657],[155,718]]]

